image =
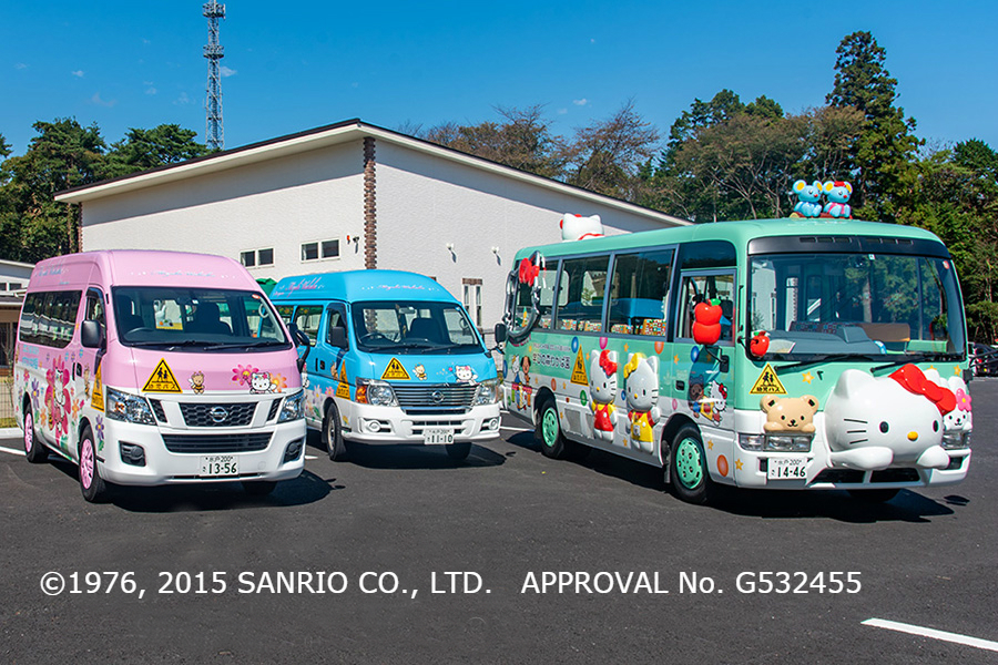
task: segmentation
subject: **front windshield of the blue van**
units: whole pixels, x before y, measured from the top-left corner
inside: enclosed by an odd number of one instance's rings
[[[473,354],[485,351],[478,332],[454,303],[355,303],[357,347],[369,354]]]

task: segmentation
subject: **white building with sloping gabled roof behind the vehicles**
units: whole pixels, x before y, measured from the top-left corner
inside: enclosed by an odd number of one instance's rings
[[[490,330],[522,246],[561,239],[564,213],[607,234],[688,224],[350,120],[62,192],[81,247],[242,258],[257,278],[394,268],[436,278]]]

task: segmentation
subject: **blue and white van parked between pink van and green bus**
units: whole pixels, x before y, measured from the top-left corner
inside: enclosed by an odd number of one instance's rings
[[[285,277],[271,300],[312,342],[305,421],[329,459],[345,441],[441,446],[462,460],[499,437],[496,364],[461,304],[399,270]]]

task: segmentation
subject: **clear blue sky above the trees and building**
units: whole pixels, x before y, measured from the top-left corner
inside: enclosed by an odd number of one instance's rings
[[[38,120],[175,123],[205,141],[201,1],[0,3],[0,134],[23,154]],[[350,117],[399,129],[497,120],[544,104],[554,129],[628,100],[664,136],[729,88],[785,111],[821,105],[843,37],[873,32],[899,104],[933,144],[998,149],[998,2],[226,2],[225,147]]]

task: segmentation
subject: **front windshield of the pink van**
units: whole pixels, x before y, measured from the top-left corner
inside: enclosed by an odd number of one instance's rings
[[[245,351],[291,348],[277,314],[254,291],[129,286],[112,289],[125,346]]]

